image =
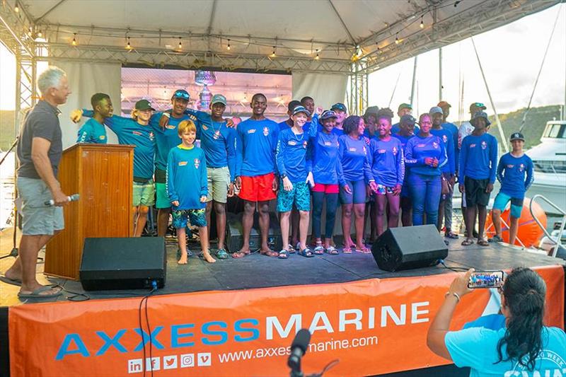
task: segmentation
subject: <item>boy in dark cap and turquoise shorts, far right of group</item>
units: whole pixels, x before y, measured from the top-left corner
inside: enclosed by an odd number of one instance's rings
[[[519,229],[519,218],[523,209],[523,200],[526,190],[533,183],[533,161],[523,153],[525,138],[523,134],[515,132],[511,135],[513,150],[505,153],[499,159],[497,166],[497,180],[501,183],[499,194],[493,202],[491,218],[495,227],[495,236],[490,242],[502,242],[501,213],[511,202],[511,224],[509,226],[509,243],[513,245]]]

